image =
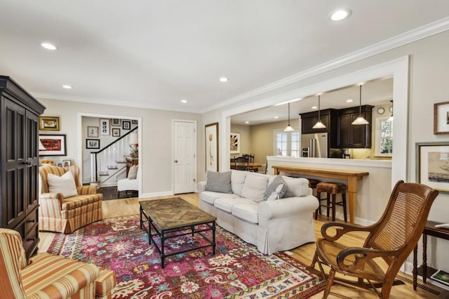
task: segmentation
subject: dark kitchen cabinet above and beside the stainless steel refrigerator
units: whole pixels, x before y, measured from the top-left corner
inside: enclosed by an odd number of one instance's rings
[[[326,128],[313,128],[318,121],[318,111],[300,113],[301,134],[328,133],[329,147],[337,146],[337,109],[324,109],[320,111],[321,122]]]

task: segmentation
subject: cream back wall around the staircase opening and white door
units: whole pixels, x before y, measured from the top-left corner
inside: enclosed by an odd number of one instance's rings
[[[142,192],[140,197],[173,194],[173,158],[172,158],[172,119],[189,119],[201,123],[201,115],[194,113],[168,112],[163,110],[121,107],[112,105],[98,105],[83,102],[70,102],[66,100],[39,99],[46,106],[45,116],[60,117],[60,131],[54,133],[67,135],[67,157],[76,165],[79,151],[86,145],[79,145],[79,113],[103,114],[111,118],[126,119],[128,117],[142,117],[142,144],[140,159],[142,171]],[[197,132],[204,135],[204,128]],[[199,143],[202,142],[202,143]],[[199,140],[197,148],[202,149],[197,161],[204,167],[204,138]],[[201,161],[201,162],[200,162]]]

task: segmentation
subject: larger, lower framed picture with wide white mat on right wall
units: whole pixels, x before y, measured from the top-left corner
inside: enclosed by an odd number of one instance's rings
[[[449,192],[449,142],[416,143],[416,181]]]

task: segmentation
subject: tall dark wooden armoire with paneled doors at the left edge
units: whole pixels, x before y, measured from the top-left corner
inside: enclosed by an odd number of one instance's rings
[[[45,107],[0,76],[0,225],[22,235],[27,257],[39,244],[39,115]]]

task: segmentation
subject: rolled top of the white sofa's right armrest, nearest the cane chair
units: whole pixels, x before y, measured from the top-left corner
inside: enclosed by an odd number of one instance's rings
[[[313,195],[261,201],[257,213],[265,219],[286,218],[302,213],[313,213],[319,202]]]

